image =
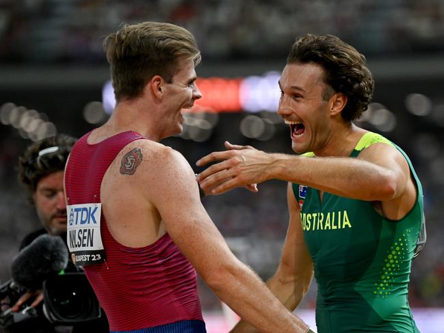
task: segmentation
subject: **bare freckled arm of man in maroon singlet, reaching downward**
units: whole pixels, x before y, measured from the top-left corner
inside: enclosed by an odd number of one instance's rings
[[[150,168],[146,198],[168,233],[209,287],[238,315],[263,332],[306,332],[265,284],[231,253],[203,208],[194,173],[178,152],[163,148]]]

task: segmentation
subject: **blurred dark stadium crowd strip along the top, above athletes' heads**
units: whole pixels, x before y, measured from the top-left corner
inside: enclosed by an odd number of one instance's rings
[[[223,59],[285,55],[294,31],[339,35],[366,55],[444,51],[440,0],[1,0],[0,10],[10,62],[99,61],[97,36],[146,18],[183,25]]]

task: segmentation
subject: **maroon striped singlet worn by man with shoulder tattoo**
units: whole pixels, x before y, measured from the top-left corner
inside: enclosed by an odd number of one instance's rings
[[[66,165],[68,207],[100,203],[101,183],[109,165],[127,144],[146,139],[138,133],[127,131],[98,144],[88,144],[89,134],[83,135],[75,144]],[[81,208],[76,209],[81,211]],[[88,209],[83,210],[88,212]],[[90,212],[95,211],[90,209]],[[80,224],[83,223],[82,217],[79,219]],[[68,224],[72,220],[70,217]],[[77,222],[77,219],[74,220]],[[103,213],[99,220],[105,261],[86,265],[84,269],[105,309],[110,330],[138,333],[206,332],[197,295],[196,270],[170,235],[166,233],[155,243],[142,248],[129,248],[112,237]],[[75,245],[76,241],[77,237],[68,237],[68,243]]]

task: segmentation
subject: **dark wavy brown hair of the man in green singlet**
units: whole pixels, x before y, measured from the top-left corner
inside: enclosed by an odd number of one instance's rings
[[[364,55],[338,37],[307,34],[296,39],[287,57],[287,64],[294,63],[324,68],[327,87],[322,98],[328,100],[335,92],[345,94],[348,101],[341,112],[344,120],[358,119],[371,102],[374,79]]]

